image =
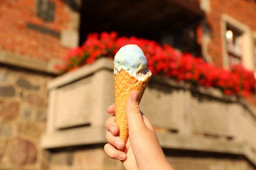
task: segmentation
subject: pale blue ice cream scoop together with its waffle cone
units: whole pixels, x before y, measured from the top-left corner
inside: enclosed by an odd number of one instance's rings
[[[144,53],[135,44],[123,46],[114,58],[116,123],[119,126],[119,136],[125,142],[129,133],[126,114],[127,99],[133,90],[137,90],[140,92],[140,101],[152,75],[146,65]]]

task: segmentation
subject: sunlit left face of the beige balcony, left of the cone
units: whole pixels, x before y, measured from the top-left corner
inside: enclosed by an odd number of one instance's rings
[[[47,131],[43,148],[104,143],[106,108],[114,103],[113,61],[91,65],[49,82]]]

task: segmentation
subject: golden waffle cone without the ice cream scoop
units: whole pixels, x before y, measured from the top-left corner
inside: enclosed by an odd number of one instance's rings
[[[126,143],[128,139],[128,121],[126,114],[126,103],[130,93],[137,90],[140,93],[139,102],[150,79],[151,72],[147,74],[144,80],[138,80],[135,76],[130,75],[124,69],[114,76],[115,80],[115,104],[116,104],[116,124],[119,127],[119,137]]]

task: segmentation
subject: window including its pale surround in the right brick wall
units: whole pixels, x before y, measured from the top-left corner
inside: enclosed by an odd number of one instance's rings
[[[247,69],[254,69],[255,54],[253,54],[252,37],[255,36],[252,35],[251,29],[235,18],[223,14],[221,31],[224,67],[228,69],[230,65],[241,63]]]

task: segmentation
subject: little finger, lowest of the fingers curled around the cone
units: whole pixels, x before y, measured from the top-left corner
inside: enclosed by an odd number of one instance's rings
[[[120,150],[117,150],[110,143],[105,144],[104,151],[112,159],[115,159],[115,160],[125,160],[126,159],[126,154],[124,152],[121,152]]]

